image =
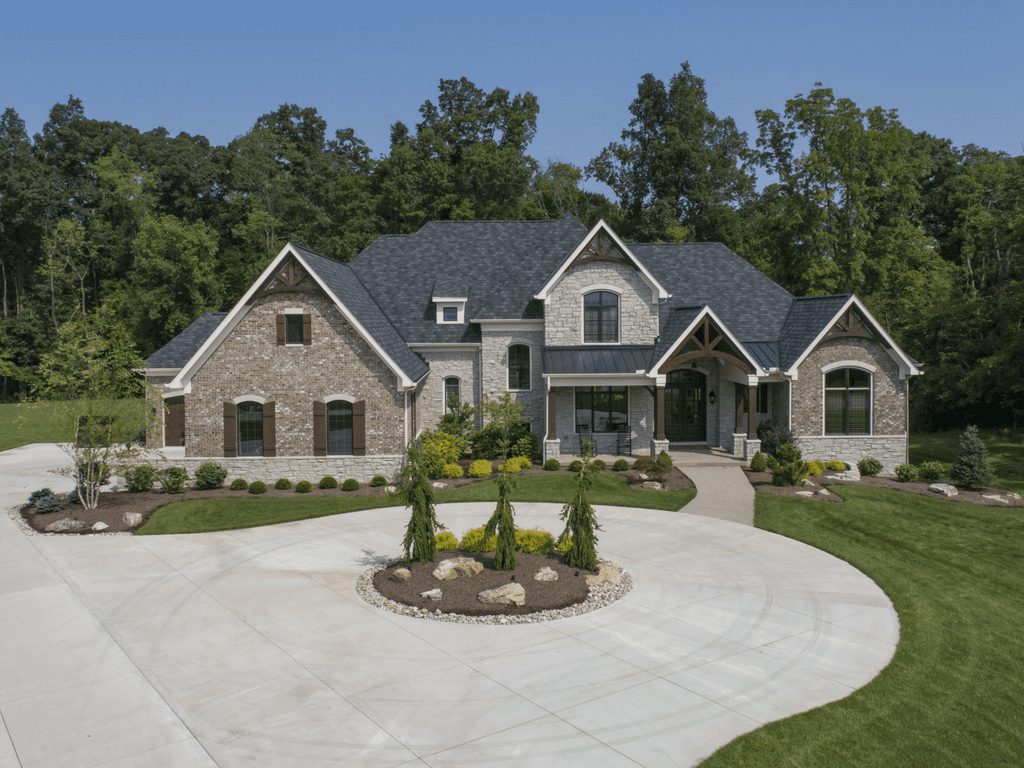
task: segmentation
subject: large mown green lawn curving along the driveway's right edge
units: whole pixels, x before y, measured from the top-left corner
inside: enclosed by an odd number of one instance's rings
[[[1020,766],[1024,515],[834,489],[846,504],[759,494],[756,524],[873,579],[899,613],[896,654],[847,698],[740,736],[703,768]]]

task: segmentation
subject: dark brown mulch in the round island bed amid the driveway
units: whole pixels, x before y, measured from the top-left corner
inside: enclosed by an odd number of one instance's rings
[[[437,563],[446,557],[460,556],[472,557],[483,563],[483,570],[476,575],[459,577],[447,582],[434,579],[432,571]],[[440,608],[443,613],[466,615],[534,613],[549,608],[564,608],[587,599],[588,571],[570,568],[557,557],[516,552],[515,559],[516,566],[513,570],[495,570],[494,556],[490,554],[438,552],[432,563],[398,563],[378,571],[374,574],[374,586],[385,597],[406,605],[430,610]],[[558,573],[557,582],[534,581],[534,574],[545,565]],[[409,568],[413,578],[404,583],[390,581],[388,577],[391,571],[401,567]],[[513,577],[526,590],[525,605],[490,605],[476,599],[483,590],[500,587],[512,581]],[[441,590],[440,601],[420,597],[421,592],[434,588]]]

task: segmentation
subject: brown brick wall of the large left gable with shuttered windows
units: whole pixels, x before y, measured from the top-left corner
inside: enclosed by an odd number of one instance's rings
[[[312,315],[312,343],[279,346],[275,315],[298,307]],[[223,456],[224,401],[257,394],[275,402],[278,457],[308,457],[313,400],[338,393],[366,400],[368,455],[402,453],[404,394],[334,303],[319,294],[259,298],[193,377],[185,395],[185,455]]]

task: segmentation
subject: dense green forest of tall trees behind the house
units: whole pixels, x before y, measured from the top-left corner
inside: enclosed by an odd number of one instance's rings
[[[228,307],[288,240],[350,259],[431,219],[605,218],[634,241],[721,241],[788,290],[854,291],[925,366],[916,428],[1024,421],[1024,157],[914,132],[816,84],[708,106],[645,75],[586,168],[529,155],[540,104],[444,80],[377,154],[284,104],[224,146],[86,116],[0,116],[0,398],[140,386],[131,368]],[[609,138],[612,138],[609,136]],[[613,199],[588,190],[587,179]],[[91,362],[91,365],[90,365]]]

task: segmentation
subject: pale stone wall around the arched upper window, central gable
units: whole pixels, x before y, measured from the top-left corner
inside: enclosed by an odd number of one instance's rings
[[[596,284],[622,291],[620,343],[652,344],[658,333],[658,306],[650,286],[627,264],[607,261],[575,264],[562,275],[544,305],[545,343],[583,344],[583,289]]]

